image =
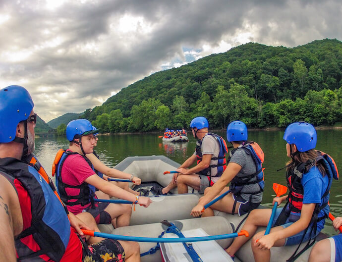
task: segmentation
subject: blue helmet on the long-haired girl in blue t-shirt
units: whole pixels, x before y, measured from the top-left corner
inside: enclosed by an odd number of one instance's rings
[[[296,122],[286,127],[283,139],[290,145],[296,145],[299,152],[305,152],[316,147],[317,133],[313,125]]]

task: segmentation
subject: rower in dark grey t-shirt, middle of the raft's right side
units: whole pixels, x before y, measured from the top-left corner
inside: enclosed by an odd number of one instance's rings
[[[241,121],[233,121],[227,128],[227,139],[233,146],[229,152],[228,166],[220,179],[207,188],[191,214],[202,217],[213,216],[213,210],[243,215],[256,209],[262,200],[264,153],[256,142],[247,141],[247,127]],[[230,187],[226,187],[230,182]],[[227,192],[230,193],[202,213],[206,204]]]

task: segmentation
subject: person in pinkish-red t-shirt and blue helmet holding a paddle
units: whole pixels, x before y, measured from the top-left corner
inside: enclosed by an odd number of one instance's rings
[[[86,119],[72,120],[66,126],[66,138],[69,140],[69,149],[59,151],[55,158],[56,186],[61,200],[67,209],[78,214],[90,212],[98,224],[115,226],[129,225],[132,209],[127,204],[95,203],[95,190],[98,188],[105,194],[131,201],[135,204],[148,207],[151,200],[123,190],[114,184],[99,177],[86,154],[93,153],[96,138],[92,124]],[[57,164],[56,164],[57,163]],[[54,170],[54,168],[53,168]]]

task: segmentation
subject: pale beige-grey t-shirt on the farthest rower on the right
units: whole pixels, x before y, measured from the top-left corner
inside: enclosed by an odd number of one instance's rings
[[[220,145],[217,139],[211,135],[205,136],[202,139],[202,146],[201,146],[201,152],[203,155],[213,155],[212,157],[219,157],[220,154]],[[196,150],[194,155],[196,155]],[[210,165],[217,165],[218,160],[211,160]],[[211,168],[211,178],[212,181],[215,183],[217,182],[220,177],[215,177],[217,174],[217,168]]]

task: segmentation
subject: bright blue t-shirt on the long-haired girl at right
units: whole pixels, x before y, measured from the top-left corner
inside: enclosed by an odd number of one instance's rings
[[[302,176],[302,186],[304,189],[303,204],[318,204],[328,203],[330,194],[322,199],[327,187],[329,185],[329,177],[326,174],[324,177],[316,166],[312,167],[308,172]],[[318,217],[329,214],[329,205],[320,211]],[[317,231],[324,228],[325,219],[317,222]]]

